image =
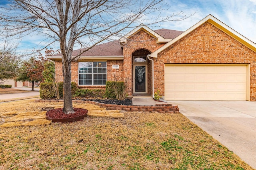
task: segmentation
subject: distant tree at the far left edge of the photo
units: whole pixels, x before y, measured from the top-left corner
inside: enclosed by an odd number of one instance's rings
[[[4,41],[0,49],[0,80],[14,78],[17,75],[17,68],[20,57],[16,55],[16,46]]]

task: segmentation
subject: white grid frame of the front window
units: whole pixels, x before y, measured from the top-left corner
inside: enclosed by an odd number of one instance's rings
[[[79,63],[91,63],[92,72],[79,72]],[[106,63],[106,67],[102,67],[102,68],[106,68],[106,72],[103,72],[103,69],[102,69],[102,72],[98,72],[98,69],[97,69],[97,72],[94,72],[94,69],[98,68],[98,67],[94,67],[94,63],[97,63],[97,66],[99,65],[99,63],[102,63],[102,65],[103,65],[103,63]],[[91,74],[92,84],[80,84],[80,74]],[[98,78],[96,78],[96,79],[94,78],[95,74],[102,74],[102,76],[105,74],[106,75],[106,81],[107,81],[107,79],[108,79],[108,76],[107,76],[108,70],[107,70],[107,62],[106,61],[79,61],[78,62],[78,86],[106,86],[106,83],[103,84],[103,82],[102,82],[102,84],[94,84],[94,80],[99,80]],[[102,78],[100,80],[105,80],[105,79]]]

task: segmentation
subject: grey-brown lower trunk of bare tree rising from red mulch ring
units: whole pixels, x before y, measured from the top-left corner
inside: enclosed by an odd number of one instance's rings
[[[63,99],[64,99],[64,107],[63,113],[71,114],[75,113],[72,104],[72,93],[71,93],[71,63],[66,61],[62,62],[63,68]]]

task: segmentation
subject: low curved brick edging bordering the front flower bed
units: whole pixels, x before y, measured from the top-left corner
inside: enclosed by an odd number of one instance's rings
[[[90,100],[72,100],[77,103],[88,103],[94,104],[100,107],[104,107],[108,110],[124,110],[124,111],[149,111],[149,112],[161,112],[161,113],[179,113],[178,106],[173,106],[172,104],[156,104],[156,106],[125,106],[125,105],[117,105],[117,104],[102,104],[99,102],[94,102]],[[40,100],[36,99],[36,102],[63,102],[63,100]]]

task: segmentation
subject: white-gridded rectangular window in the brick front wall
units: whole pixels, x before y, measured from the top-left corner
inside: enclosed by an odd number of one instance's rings
[[[107,62],[79,62],[79,85],[106,85]]]

